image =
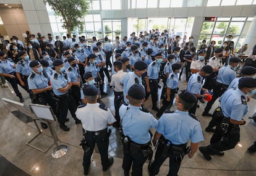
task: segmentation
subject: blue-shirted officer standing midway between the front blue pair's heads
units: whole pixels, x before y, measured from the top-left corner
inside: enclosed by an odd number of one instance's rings
[[[156,53],[155,61],[148,65],[147,69],[147,77],[146,78],[146,85],[147,85],[147,93],[146,93],[146,100],[148,96],[151,94],[152,99],[152,109],[155,111],[159,111],[159,108],[156,105],[158,99],[158,75],[160,72],[161,62],[163,61],[163,56],[161,52]]]

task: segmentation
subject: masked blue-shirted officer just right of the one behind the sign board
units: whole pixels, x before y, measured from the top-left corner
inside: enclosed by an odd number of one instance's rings
[[[64,131],[69,131],[69,127],[65,125],[67,120],[67,110],[69,109],[69,89],[72,86],[69,77],[65,72],[64,63],[61,59],[53,61],[54,73],[51,75],[51,85],[53,93],[58,98],[59,105],[59,127]]]

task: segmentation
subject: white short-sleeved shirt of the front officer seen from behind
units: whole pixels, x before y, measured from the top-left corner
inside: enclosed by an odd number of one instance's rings
[[[75,115],[77,115],[77,119],[81,120],[84,130],[97,132],[104,130],[108,124],[116,122],[109,108],[108,111],[105,111],[99,105],[99,103],[87,103],[86,106],[77,108]]]

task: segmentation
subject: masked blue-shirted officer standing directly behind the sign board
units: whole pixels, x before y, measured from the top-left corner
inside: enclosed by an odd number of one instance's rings
[[[28,77],[28,89],[33,93],[33,103],[49,104],[49,106],[53,108],[53,98],[51,94],[53,88],[49,85],[50,76],[43,70],[39,61],[34,60],[30,62],[29,66],[33,70]],[[47,125],[41,122],[41,127],[46,129]]]

